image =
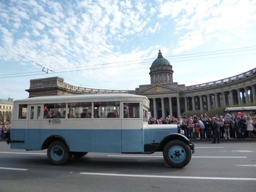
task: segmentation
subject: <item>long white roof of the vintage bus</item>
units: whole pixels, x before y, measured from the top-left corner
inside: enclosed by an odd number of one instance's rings
[[[19,99],[14,102],[36,102],[36,101],[60,101],[73,99],[120,99],[120,98],[145,98],[146,96],[133,95],[127,93],[100,93],[100,94],[81,94],[81,95],[56,95],[56,96],[38,96],[27,99]],[[149,100],[148,100],[149,101]]]

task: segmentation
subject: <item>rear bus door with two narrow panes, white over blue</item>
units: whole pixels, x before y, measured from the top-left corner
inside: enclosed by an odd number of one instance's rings
[[[41,149],[41,122],[43,105],[28,106],[28,127],[26,134],[26,149]]]

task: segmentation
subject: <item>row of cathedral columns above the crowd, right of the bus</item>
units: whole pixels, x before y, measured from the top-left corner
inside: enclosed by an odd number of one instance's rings
[[[209,111],[212,108],[244,105],[256,102],[256,84],[221,92],[196,94],[189,96],[148,97],[151,115],[160,118],[166,116],[178,117],[185,111]]]

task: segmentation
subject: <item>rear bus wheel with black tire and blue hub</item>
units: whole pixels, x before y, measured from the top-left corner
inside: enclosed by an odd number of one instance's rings
[[[52,165],[63,165],[70,160],[71,154],[61,141],[53,141],[47,149],[47,157]]]

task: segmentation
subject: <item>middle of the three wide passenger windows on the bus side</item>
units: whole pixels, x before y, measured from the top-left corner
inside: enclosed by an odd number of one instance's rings
[[[92,118],[92,103],[68,103],[67,118]]]

